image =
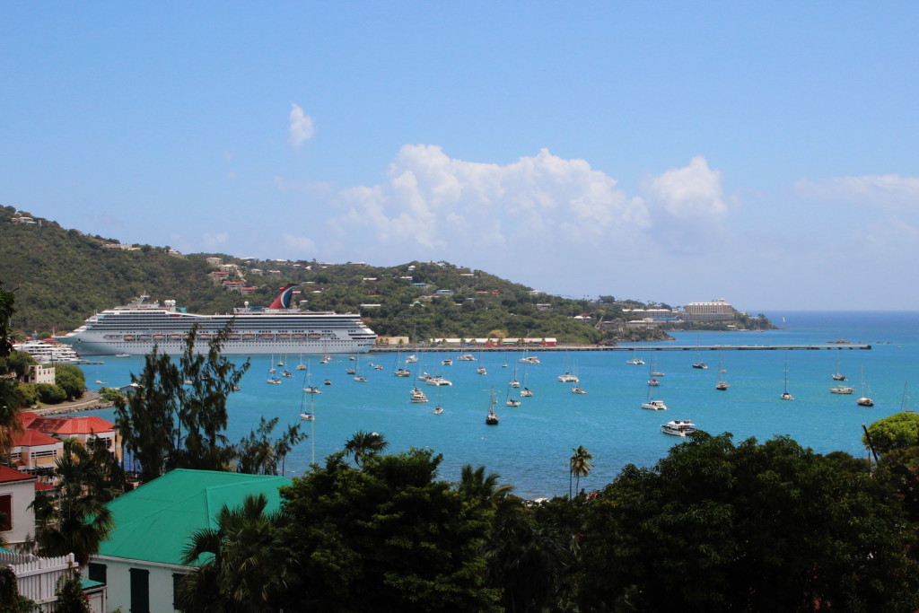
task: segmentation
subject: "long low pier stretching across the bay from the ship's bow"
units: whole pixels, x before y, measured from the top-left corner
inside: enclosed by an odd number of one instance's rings
[[[557,345],[557,346],[443,346],[443,345],[401,345],[374,346],[374,353],[490,353],[490,352],[543,352],[543,351],[821,351],[821,350],[869,350],[870,345],[857,343],[824,343],[822,345]]]

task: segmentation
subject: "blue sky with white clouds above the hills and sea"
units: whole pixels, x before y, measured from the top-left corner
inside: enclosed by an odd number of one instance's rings
[[[578,298],[919,304],[915,3],[2,12],[0,203],[65,227]]]

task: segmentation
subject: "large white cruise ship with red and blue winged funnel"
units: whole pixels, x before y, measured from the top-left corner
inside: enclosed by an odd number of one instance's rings
[[[290,307],[296,285],[280,289],[267,308],[249,306],[233,313],[199,315],[176,308],[176,301],[145,302],[142,296],[126,306],[98,312],[67,335],[56,336],[81,355],[142,356],[157,346],[161,353],[180,355],[192,326],[198,324],[195,351],[205,353],[212,338],[229,325],[221,353],[262,354],[367,353],[377,335],[354,313],[301,311]]]

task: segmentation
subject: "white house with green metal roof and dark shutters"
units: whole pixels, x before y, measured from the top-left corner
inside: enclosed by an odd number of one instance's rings
[[[89,562],[89,578],[108,585],[108,606],[132,613],[177,611],[176,590],[193,567],[182,564],[188,538],[215,528],[223,505],[265,494],[267,510],[280,505],[285,477],[238,472],[167,472],[108,503],[115,529]]]

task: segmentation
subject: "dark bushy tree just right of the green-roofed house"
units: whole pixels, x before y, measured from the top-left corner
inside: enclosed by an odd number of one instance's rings
[[[291,515],[291,610],[493,611],[482,546],[489,513],[437,480],[429,449],[336,453],[281,489]]]

